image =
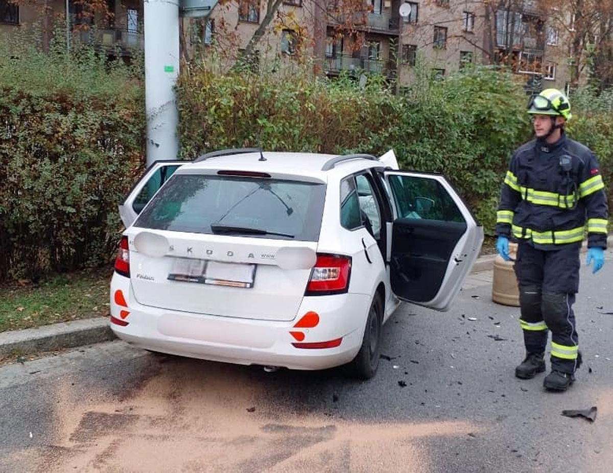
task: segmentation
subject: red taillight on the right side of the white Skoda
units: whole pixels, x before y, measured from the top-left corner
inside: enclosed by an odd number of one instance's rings
[[[318,254],[305,295],[341,294],[349,289],[351,257]]]

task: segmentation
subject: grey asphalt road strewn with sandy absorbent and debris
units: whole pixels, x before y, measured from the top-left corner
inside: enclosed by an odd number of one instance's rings
[[[2,366],[0,471],[610,472],[607,259],[596,275],[582,270],[585,363],[567,393],[544,392],[544,375],[514,377],[519,310],[492,303],[481,274],[450,312],[402,306],[384,328],[390,359],[368,382],[339,369],[264,373],[160,357],[118,341]],[[592,406],[593,423],[561,415]]]

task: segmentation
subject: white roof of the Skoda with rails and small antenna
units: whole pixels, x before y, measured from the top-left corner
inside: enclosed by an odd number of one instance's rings
[[[343,164],[337,164],[327,170],[322,170],[326,163],[339,155],[285,153],[278,151],[263,151],[262,154],[266,161],[259,161],[261,157],[259,151],[254,153],[227,154],[225,156],[210,157],[204,161],[187,163],[182,165],[177,172],[192,173],[197,170],[253,171],[277,175],[309,176],[327,181],[331,173],[337,174],[339,167],[342,167],[340,173],[347,175],[360,169],[373,167],[373,165],[383,165],[379,161],[367,161],[367,159],[356,157],[356,159],[344,160]]]

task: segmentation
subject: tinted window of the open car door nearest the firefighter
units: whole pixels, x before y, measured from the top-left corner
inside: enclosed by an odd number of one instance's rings
[[[440,182],[414,176],[391,175],[396,211],[400,218],[464,222],[454,200]]]

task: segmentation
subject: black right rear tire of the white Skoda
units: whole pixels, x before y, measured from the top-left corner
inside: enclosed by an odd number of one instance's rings
[[[383,303],[379,294],[375,294],[370,309],[362,346],[356,357],[349,363],[349,374],[357,379],[370,379],[375,376],[381,353],[381,320],[383,320]]]

